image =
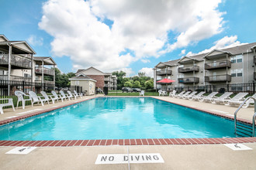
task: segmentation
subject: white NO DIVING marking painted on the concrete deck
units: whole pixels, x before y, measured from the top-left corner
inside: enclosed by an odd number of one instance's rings
[[[155,154],[99,154],[95,164],[152,164],[164,163],[159,153]]]

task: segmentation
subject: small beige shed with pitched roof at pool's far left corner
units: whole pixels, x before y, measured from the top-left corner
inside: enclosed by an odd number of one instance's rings
[[[71,91],[77,90],[77,92],[85,93],[86,95],[95,94],[96,80],[84,74],[79,74],[78,76],[71,77]]]

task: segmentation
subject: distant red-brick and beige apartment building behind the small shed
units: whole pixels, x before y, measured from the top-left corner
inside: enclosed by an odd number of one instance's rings
[[[103,73],[91,66],[86,70],[78,70],[76,76],[79,76],[80,74],[84,74],[91,77],[92,80],[96,80],[96,87],[101,89],[103,89],[103,87],[109,87],[109,90],[117,89],[117,78],[116,75],[112,75],[112,73]]]

